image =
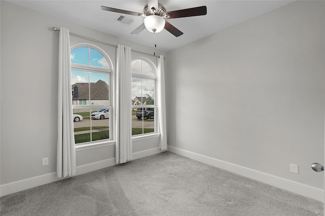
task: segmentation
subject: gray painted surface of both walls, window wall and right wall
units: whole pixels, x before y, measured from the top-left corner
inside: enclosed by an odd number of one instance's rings
[[[324,157],[324,9],[320,1],[295,2],[169,52],[169,145],[323,188],[310,164]],[[157,53],[1,1],[1,185],[55,172],[58,32],[52,26]],[[157,146],[157,138],[139,140],[133,151]],[[78,151],[77,165],[114,152],[114,146]],[[298,175],[290,163],[299,165]]]

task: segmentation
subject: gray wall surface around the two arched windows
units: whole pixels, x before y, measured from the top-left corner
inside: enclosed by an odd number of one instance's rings
[[[154,48],[1,1],[1,185],[56,171],[59,33],[52,31],[53,26],[109,44],[166,55]],[[74,36],[71,41],[72,45],[82,42]],[[100,46],[116,68],[115,48]],[[158,139],[133,144],[133,152],[141,152],[157,148]],[[43,157],[49,158],[48,166],[42,166]],[[77,166],[110,159],[115,157],[115,146],[77,151],[76,157]]]

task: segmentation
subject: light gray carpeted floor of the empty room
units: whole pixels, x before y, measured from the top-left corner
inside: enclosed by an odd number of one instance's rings
[[[171,152],[4,196],[1,215],[322,215],[323,203]]]

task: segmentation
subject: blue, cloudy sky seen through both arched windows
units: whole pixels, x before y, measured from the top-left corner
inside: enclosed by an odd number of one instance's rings
[[[70,56],[72,63],[110,68],[104,56],[91,48],[76,48],[71,51]],[[90,82],[96,82],[100,79],[107,82],[107,84],[110,84],[108,74],[80,70],[71,70],[71,72],[71,84],[77,82],[89,82],[89,80]],[[155,75],[151,66],[145,61],[139,59],[132,62],[132,72],[145,75]],[[154,88],[155,81],[152,79],[132,78],[132,99],[135,97],[146,97],[147,95],[154,97]]]

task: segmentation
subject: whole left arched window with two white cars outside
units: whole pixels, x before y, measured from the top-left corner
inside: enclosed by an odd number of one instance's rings
[[[110,139],[112,63],[100,48],[71,48],[71,88],[75,142]]]

